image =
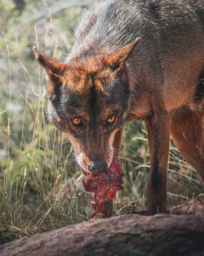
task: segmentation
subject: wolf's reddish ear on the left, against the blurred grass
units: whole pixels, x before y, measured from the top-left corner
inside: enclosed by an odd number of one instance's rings
[[[35,54],[36,60],[40,65],[46,70],[48,76],[48,97],[51,97],[55,92],[55,88],[60,85],[60,78],[64,70],[67,68],[67,65],[56,61],[51,56],[39,52],[37,47],[33,47],[33,52]]]

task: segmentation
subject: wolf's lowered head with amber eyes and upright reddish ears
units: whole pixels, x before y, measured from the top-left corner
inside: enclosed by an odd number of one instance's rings
[[[47,72],[48,119],[69,138],[85,173],[108,168],[115,133],[129,115],[126,60],[138,39],[109,56],[74,58],[61,63],[38,52]]]

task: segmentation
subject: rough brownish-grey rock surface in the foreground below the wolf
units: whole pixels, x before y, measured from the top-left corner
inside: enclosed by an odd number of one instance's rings
[[[0,245],[1,256],[202,256],[200,216],[121,215],[63,227]]]

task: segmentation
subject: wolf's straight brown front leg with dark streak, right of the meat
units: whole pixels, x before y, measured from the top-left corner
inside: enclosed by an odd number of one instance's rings
[[[170,146],[170,116],[157,113],[146,120],[151,160],[148,184],[148,211],[166,213],[166,175]]]

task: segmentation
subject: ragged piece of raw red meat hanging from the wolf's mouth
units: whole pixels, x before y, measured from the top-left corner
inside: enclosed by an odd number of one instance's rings
[[[82,181],[87,192],[95,193],[91,207],[94,209],[91,218],[104,210],[104,201],[113,200],[117,191],[122,190],[122,170],[120,164],[113,162],[107,170],[97,177],[87,174],[87,180]]]

